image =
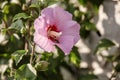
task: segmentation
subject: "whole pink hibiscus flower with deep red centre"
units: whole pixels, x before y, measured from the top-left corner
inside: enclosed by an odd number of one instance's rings
[[[54,51],[57,45],[67,55],[80,39],[80,25],[72,20],[69,12],[58,6],[43,9],[34,28],[34,42],[47,52]]]

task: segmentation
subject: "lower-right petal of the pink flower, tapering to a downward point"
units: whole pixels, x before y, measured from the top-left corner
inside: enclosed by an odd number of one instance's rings
[[[63,50],[65,55],[69,54],[74,45],[74,36],[61,36],[59,41],[60,43],[56,45]]]

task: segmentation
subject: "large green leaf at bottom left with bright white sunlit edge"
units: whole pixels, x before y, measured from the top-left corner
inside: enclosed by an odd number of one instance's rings
[[[37,76],[36,70],[31,64],[24,64],[16,71],[16,80],[35,80]]]

